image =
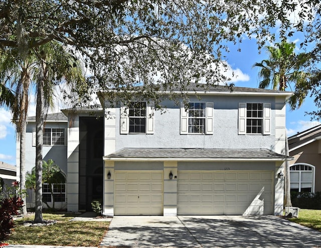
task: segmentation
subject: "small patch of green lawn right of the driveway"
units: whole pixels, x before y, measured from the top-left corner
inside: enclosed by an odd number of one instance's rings
[[[300,209],[298,218],[289,218],[290,221],[321,231],[321,210]]]

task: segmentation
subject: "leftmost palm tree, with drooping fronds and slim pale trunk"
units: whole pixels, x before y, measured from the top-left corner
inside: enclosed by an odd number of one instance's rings
[[[13,122],[16,123],[16,132],[20,140],[20,183],[21,189],[26,189],[26,142],[27,112],[29,102],[29,88],[35,69],[33,54],[25,54],[19,58],[18,49],[2,50],[0,59],[0,79],[2,104],[5,104],[13,113]],[[8,87],[7,87],[8,85]],[[13,90],[14,89],[14,90]],[[26,202],[26,195],[21,195]],[[27,213],[24,204],[23,213]]]

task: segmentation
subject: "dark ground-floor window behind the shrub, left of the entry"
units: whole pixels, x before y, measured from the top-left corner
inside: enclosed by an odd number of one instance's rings
[[[52,192],[52,193],[51,193]],[[52,184],[44,183],[42,185],[42,200],[44,202],[65,202],[66,201],[66,184]]]

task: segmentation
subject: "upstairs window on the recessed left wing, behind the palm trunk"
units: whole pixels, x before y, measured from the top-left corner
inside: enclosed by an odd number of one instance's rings
[[[43,145],[55,146],[66,145],[66,132],[65,129],[44,129]],[[33,129],[33,146],[36,146],[36,129]]]

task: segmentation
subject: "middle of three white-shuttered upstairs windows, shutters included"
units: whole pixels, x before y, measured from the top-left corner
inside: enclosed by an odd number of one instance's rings
[[[213,134],[213,102],[181,103],[181,134]]]

